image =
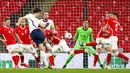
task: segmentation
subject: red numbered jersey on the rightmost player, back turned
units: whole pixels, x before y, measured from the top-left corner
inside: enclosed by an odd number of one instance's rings
[[[112,36],[117,36],[118,30],[121,28],[118,20],[116,18],[109,18],[107,23],[112,29]]]

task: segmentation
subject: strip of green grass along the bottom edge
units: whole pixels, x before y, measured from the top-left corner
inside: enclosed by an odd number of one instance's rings
[[[130,69],[0,69],[0,73],[130,73]]]

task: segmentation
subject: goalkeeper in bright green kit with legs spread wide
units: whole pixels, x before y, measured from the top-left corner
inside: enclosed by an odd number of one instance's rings
[[[74,44],[74,42],[76,41],[74,50],[88,49],[88,53],[90,52],[92,55],[95,55],[96,52],[92,46],[83,46],[84,44],[86,44],[88,42],[94,41],[93,36],[92,36],[93,30],[90,27],[88,27],[88,25],[89,25],[88,21],[84,20],[83,26],[77,28],[76,34],[74,35],[74,40],[72,40],[69,45]],[[71,59],[74,56],[75,56],[75,54],[72,54],[68,57],[63,68],[66,68],[67,64],[71,61]],[[100,59],[98,59],[98,63],[100,64],[100,67],[103,68],[103,65],[101,64]]]

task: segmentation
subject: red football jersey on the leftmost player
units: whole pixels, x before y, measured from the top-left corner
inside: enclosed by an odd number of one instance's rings
[[[2,34],[4,39],[7,41],[6,45],[16,44],[14,28],[3,26],[0,28],[0,34]]]

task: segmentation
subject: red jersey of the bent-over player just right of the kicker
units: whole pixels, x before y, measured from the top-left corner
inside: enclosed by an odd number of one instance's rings
[[[53,34],[53,30],[45,30],[46,37],[48,39],[51,39],[54,44],[59,44],[59,42],[62,40],[62,38],[58,34]]]

